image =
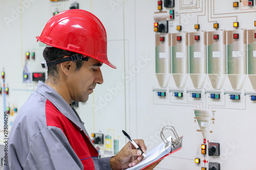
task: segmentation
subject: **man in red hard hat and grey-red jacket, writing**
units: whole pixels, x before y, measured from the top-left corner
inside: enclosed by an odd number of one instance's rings
[[[63,11],[36,38],[47,44],[41,65],[48,69],[48,78],[19,109],[4,169],[124,169],[140,162],[143,156],[131,142],[116,156],[99,159],[71,105],[86,102],[96,84],[103,83],[103,63],[116,68],[106,56],[106,32],[100,20],[83,10]],[[135,142],[146,151],[143,140]]]

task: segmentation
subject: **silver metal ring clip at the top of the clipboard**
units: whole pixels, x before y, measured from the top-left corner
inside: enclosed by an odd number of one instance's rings
[[[165,137],[164,134],[163,134],[163,131],[164,131],[164,130],[167,130],[167,129],[173,131],[174,136],[176,137],[175,140],[173,140],[173,138],[172,138],[172,141],[168,141],[168,140],[166,139],[166,137]],[[179,136],[178,136],[178,133],[176,132],[176,130],[175,130],[175,128],[174,128],[173,126],[170,126],[170,125],[164,126],[164,127],[162,128],[161,132],[160,132],[160,136],[161,136],[163,142],[165,143],[165,148],[168,147],[169,144],[172,144],[172,145],[173,145],[173,148],[176,148],[177,145],[180,145],[180,147],[178,147],[178,148],[181,148],[183,136],[179,137]],[[170,142],[172,142],[172,143],[170,143]],[[175,150],[176,150],[176,149],[175,149]]]

